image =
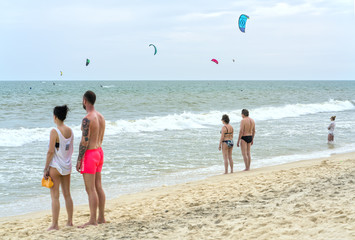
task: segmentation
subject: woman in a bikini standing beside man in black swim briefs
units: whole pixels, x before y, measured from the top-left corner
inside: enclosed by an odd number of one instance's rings
[[[231,173],[233,173],[233,127],[229,124],[229,117],[224,114],[221,119],[223,127],[221,129],[221,138],[219,140],[219,151],[222,149],[223,159],[224,159],[224,174],[228,173],[228,162],[231,168]]]

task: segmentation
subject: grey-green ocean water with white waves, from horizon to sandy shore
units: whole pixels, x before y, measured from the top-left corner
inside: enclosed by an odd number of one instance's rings
[[[71,109],[66,124],[74,130],[75,166],[86,90],[96,93],[106,118],[108,199],[222,174],[220,119],[228,114],[237,132],[243,108],[256,122],[252,168],[355,150],[355,81],[0,82],[0,217],[51,208],[41,178],[52,110]],[[328,145],[332,115],[335,144]],[[233,160],[235,171],[244,169],[237,147]],[[75,205],[87,203],[74,168],[71,192]]]

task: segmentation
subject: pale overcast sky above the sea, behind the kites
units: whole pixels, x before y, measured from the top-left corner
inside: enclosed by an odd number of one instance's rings
[[[0,80],[355,80],[353,0],[0,0],[0,33]]]

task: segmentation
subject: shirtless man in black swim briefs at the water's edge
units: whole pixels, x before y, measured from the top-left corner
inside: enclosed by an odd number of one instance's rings
[[[251,162],[250,147],[254,143],[255,122],[249,117],[249,111],[246,109],[242,110],[242,118],[243,119],[240,122],[237,147],[239,147],[239,143],[241,143],[240,148],[242,149],[242,155],[245,164],[244,171],[249,171]]]

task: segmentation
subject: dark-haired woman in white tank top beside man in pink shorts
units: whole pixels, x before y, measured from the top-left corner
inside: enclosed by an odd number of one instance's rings
[[[50,176],[53,180],[52,197],[52,225],[48,230],[58,230],[59,218],[59,186],[65,199],[68,213],[67,226],[73,226],[73,200],[70,195],[70,173],[72,169],[71,156],[73,154],[74,134],[70,127],[64,124],[69,109],[66,105],[57,106],[53,110],[56,128],[51,130],[47,161],[44,167],[44,178]]]

